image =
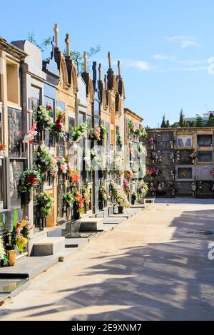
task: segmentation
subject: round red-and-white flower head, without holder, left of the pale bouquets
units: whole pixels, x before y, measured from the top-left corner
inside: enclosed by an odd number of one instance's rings
[[[19,180],[19,192],[31,192],[41,184],[41,174],[37,170],[26,170]]]

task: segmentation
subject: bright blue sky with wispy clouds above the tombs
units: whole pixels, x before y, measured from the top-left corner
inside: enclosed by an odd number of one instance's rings
[[[1,4],[0,36],[24,39],[34,31],[41,41],[60,29],[71,48],[85,51],[101,45],[96,61],[107,68],[107,53],[121,59],[126,85],[126,107],[151,127],[214,110],[214,1],[212,0],[7,0]]]

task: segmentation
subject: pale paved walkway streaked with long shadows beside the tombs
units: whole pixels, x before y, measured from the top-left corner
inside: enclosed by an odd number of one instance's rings
[[[213,320],[214,207],[157,204],[31,282],[1,320]]]

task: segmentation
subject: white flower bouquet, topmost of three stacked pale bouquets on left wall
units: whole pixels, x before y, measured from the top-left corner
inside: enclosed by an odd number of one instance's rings
[[[38,129],[51,130],[54,126],[54,119],[52,118],[51,105],[39,105],[34,115],[34,121],[37,123]]]

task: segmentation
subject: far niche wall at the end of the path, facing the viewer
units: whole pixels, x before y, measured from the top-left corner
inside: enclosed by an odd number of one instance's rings
[[[213,128],[146,129],[146,181],[156,197],[214,197]],[[151,173],[152,169],[155,171]]]

